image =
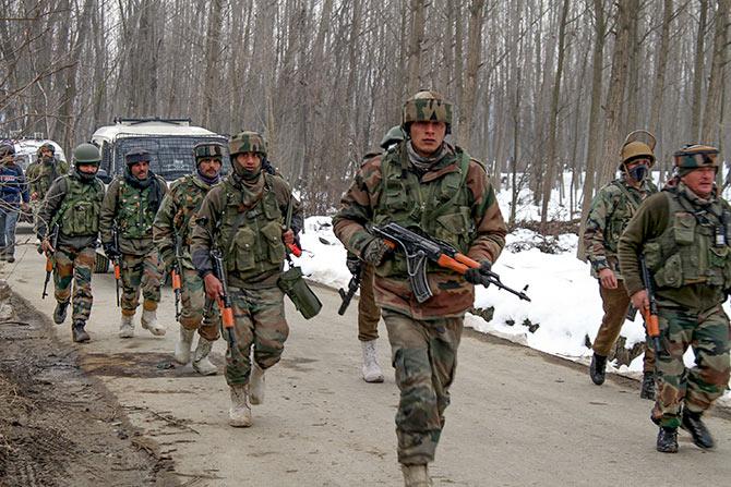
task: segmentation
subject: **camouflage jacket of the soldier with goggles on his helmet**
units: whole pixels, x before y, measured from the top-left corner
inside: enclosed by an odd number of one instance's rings
[[[603,186],[591,200],[584,231],[584,248],[591,264],[591,276],[599,277],[602,269],[614,271],[622,279],[616,247],[620,236],[647,196],[657,193],[657,186],[645,180],[639,190],[626,183],[624,178],[616,179]]]

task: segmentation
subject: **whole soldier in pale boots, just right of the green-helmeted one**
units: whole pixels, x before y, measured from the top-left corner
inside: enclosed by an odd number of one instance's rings
[[[157,337],[165,334],[165,327],[157,322],[160,302],[163,269],[153,243],[153,221],[163,202],[167,185],[165,180],[149,169],[151,155],[143,149],[132,149],[124,156],[127,168],[122,176],[109,184],[101,206],[99,232],[107,257],[121,256],[122,318],[120,338],[134,337],[132,318],[142,304],[142,328]],[[117,229],[119,248],[115,245],[112,230]]]

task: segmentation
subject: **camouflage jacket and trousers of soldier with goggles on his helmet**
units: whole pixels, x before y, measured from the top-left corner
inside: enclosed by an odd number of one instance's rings
[[[599,272],[609,268],[618,280],[616,289],[608,289],[599,283],[604,316],[594,341],[594,351],[598,355],[606,357],[614,348],[630,306],[616,256],[620,236],[639,204],[657,191],[657,186],[648,180],[636,188],[623,176],[599,190],[591,202],[584,232],[584,247],[591,264],[591,277],[599,279]],[[655,369],[655,353],[647,345],[644,369],[649,373]]]

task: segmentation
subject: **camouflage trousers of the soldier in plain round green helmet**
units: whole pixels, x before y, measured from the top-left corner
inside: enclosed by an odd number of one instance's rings
[[[74,321],[87,321],[92,313],[92,272],[96,251],[94,247],[73,248],[59,246],[53,254],[53,287],[55,297],[59,303],[71,300],[71,284],[73,282],[73,315]]]

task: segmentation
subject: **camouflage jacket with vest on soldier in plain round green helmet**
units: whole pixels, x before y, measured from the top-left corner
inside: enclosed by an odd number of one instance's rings
[[[82,181],[74,173],[58,178],[36,215],[38,240],[58,224],[59,245],[96,246],[104,193],[104,183],[98,178],[91,182]]]

